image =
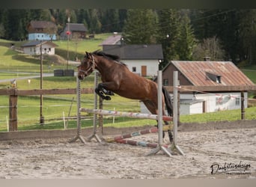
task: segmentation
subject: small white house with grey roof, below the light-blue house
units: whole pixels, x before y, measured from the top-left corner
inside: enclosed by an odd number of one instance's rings
[[[23,44],[22,50],[28,55],[40,55],[42,46],[42,53],[47,55],[55,55],[55,47],[58,46],[50,41],[34,40]]]

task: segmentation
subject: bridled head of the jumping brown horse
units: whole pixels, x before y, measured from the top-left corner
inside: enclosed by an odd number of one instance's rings
[[[85,79],[89,76],[95,69],[94,56],[90,52],[85,52],[85,58],[82,60],[81,64],[78,66],[78,78],[80,80]]]

